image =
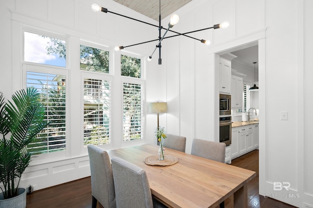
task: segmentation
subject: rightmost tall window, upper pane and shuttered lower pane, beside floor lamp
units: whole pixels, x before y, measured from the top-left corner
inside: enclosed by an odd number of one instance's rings
[[[121,55],[121,75],[141,78],[141,60]],[[142,138],[143,82],[123,79],[123,140]]]

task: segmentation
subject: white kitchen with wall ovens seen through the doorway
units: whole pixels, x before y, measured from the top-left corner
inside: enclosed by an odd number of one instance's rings
[[[259,148],[258,45],[220,55],[220,142],[226,163]],[[250,90],[249,90],[250,89]]]

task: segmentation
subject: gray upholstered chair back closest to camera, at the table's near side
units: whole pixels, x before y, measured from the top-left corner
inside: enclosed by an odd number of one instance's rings
[[[121,158],[112,157],[116,207],[153,208],[146,171]]]

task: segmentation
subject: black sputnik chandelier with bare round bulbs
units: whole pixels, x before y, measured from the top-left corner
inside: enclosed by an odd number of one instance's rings
[[[151,26],[155,26],[158,28],[158,32],[159,32],[159,36],[158,36],[158,39],[155,39],[155,40],[151,40],[151,41],[146,41],[146,42],[139,42],[139,43],[136,43],[136,44],[132,44],[132,45],[127,45],[127,46],[116,46],[114,49],[115,51],[118,51],[118,50],[121,50],[121,49],[124,49],[126,47],[131,47],[131,46],[134,46],[134,45],[139,45],[139,44],[143,44],[143,43],[148,43],[148,42],[154,42],[154,41],[158,41],[157,45],[156,45],[156,48],[159,49],[159,58],[158,58],[158,64],[162,64],[162,59],[161,59],[161,42],[163,39],[167,39],[167,38],[173,38],[173,37],[176,37],[176,36],[185,36],[185,37],[188,37],[188,38],[192,38],[194,40],[197,40],[197,41],[200,41],[206,45],[209,45],[211,42],[210,41],[206,41],[206,40],[203,40],[203,39],[197,39],[197,38],[194,38],[194,37],[191,37],[191,36],[188,36],[187,34],[189,33],[194,33],[194,32],[199,32],[199,31],[202,31],[202,30],[208,30],[208,29],[218,29],[218,28],[226,28],[229,26],[229,22],[228,21],[224,21],[223,23],[221,24],[214,24],[213,27],[207,27],[207,28],[203,28],[203,29],[199,29],[199,30],[194,30],[194,31],[190,31],[190,32],[186,32],[186,33],[179,33],[179,32],[175,32],[173,30],[170,30],[170,28],[172,28],[175,24],[177,24],[179,22],[179,16],[177,14],[174,14],[171,16],[171,19],[170,19],[170,22],[168,23],[168,27],[166,29],[166,31],[164,32],[163,36],[161,36],[161,30],[162,29],[165,29],[163,26],[161,26],[161,0],[159,0],[159,25],[154,25],[154,24],[151,24],[151,23],[148,23],[148,22],[145,22],[145,21],[140,21],[140,20],[136,20],[134,18],[131,18],[131,17],[127,17],[125,15],[121,15],[121,14],[118,14],[118,13],[115,13],[115,12],[111,12],[109,11],[107,8],[104,8],[104,7],[101,7],[101,6],[98,6],[97,4],[92,4],[91,5],[91,9],[93,11],[101,11],[101,12],[104,12],[104,13],[112,13],[112,14],[115,14],[115,15],[119,15],[119,16],[122,16],[122,17],[125,17],[125,18],[128,18],[128,19],[131,19],[131,20],[134,20],[134,21],[139,21],[139,22],[142,22],[142,23],[145,23],[145,24],[149,24]],[[171,31],[173,33],[176,33],[176,35],[172,35],[172,36],[168,36],[168,37],[165,37],[166,33],[168,31]],[[153,54],[155,53],[156,51],[156,48],[154,49],[153,53],[151,54],[151,56],[149,56],[148,58],[148,61],[151,61],[152,59],[152,56]]]

